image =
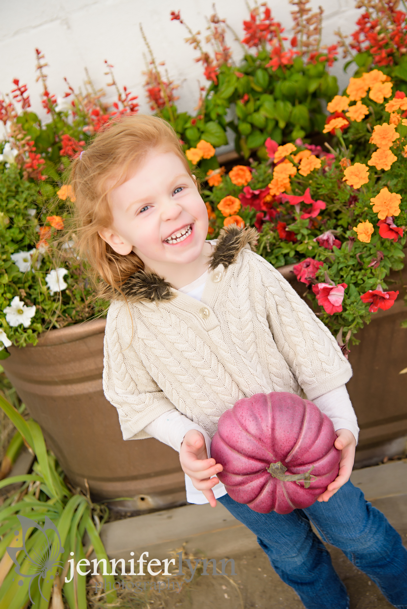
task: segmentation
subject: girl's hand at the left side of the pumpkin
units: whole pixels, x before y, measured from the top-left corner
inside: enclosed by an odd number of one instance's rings
[[[211,507],[216,507],[212,488],[219,480],[211,476],[222,471],[223,467],[214,459],[208,459],[205,438],[200,431],[189,429],[186,432],[180,449],[180,463],[185,474],[191,478],[194,487],[202,491]]]

